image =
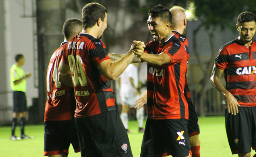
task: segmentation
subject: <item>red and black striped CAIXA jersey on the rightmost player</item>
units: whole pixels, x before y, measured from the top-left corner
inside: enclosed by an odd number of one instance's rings
[[[226,89],[240,105],[256,106],[256,42],[245,46],[238,38],[220,48],[216,67],[224,70]]]

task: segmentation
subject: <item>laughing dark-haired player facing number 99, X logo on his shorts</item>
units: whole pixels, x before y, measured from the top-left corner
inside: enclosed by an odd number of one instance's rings
[[[172,15],[157,5],[149,10],[148,28],[154,41],[137,57],[147,64],[148,118],[141,157],[189,157],[188,105],[183,94],[187,52],[174,36]],[[145,93],[145,92],[144,92]]]

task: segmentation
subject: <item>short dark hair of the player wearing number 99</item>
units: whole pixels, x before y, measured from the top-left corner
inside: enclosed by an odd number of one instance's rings
[[[83,29],[93,27],[100,18],[104,21],[105,13],[108,13],[107,9],[99,3],[85,5],[82,9]]]

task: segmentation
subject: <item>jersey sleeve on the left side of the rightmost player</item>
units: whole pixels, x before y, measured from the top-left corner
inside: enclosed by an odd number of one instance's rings
[[[224,70],[228,65],[228,56],[227,49],[225,47],[221,47],[214,61],[215,66]]]

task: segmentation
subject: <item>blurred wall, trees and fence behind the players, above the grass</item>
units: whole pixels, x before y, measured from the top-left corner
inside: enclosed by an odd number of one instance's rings
[[[16,54],[24,54],[27,79],[28,121],[42,124],[46,96],[46,71],[52,53],[63,42],[62,26],[69,18],[81,19],[81,9],[98,2],[108,11],[108,27],[102,41],[109,52],[125,54],[133,40],[149,42],[148,10],[155,5],[186,9],[190,60],[187,80],[197,114],[224,115],[223,96],[209,78],[218,49],[239,36],[235,24],[244,11],[256,13],[249,0],[0,0],[0,125],[12,120],[9,70]],[[146,64],[139,67],[145,84]],[[225,82],[225,80],[222,81]]]

